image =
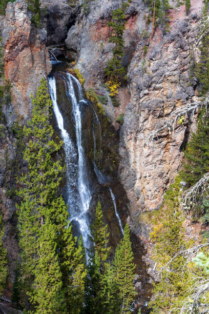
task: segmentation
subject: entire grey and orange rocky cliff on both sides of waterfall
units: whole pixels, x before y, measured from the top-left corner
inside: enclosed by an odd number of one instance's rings
[[[176,123],[171,132],[165,129],[154,141],[147,141],[176,108],[198,99],[197,81],[190,75],[189,63],[191,48],[198,37],[202,0],[191,1],[188,16],[184,6],[177,7],[176,2],[171,1],[170,28],[162,34],[157,27],[153,38],[146,2],[132,1],[127,9],[123,35],[122,62],[128,70],[127,83],[119,88],[120,106],[113,107],[104,86],[105,68],[113,49],[107,22],[119,3],[119,0],[92,1],[84,14],[80,6],[71,7],[67,0],[43,0],[43,11],[45,7],[46,11],[40,29],[31,24],[31,13],[24,0],[9,3],[1,25],[5,74],[12,82],[12,103],[7,108],[3,106],[3,113],[7,117],[7,128],[16,120],[23,123],[28,120],[32,109],[30,94],[35,93],[40,78],[47,77],[52,69],[47,47],[53,48],[56,55],[60,53],[57,48],[61,47],[64,54],[73,58],[85,78],[85,89],[93,88],[97,94],[108,97],[103,108],[115,130],[119,129],[117,176],[129,200],[128,221],[145,244],[149,226],[143,222],[141,213],[160,207],[164,191],[180,169],[182,150],[190,130],[195,127],[194,121],[185,117],[184,125]],[[124,113],[124,123],[119,127],[116,119],[121,113]],[[14,143],[13,135],[7,131],[1,146],[2,159],[7,148],[13,158]],[[0,180],[1,198],[12,272],[18,248],[14,231],[15,205],[5,196],[6,171],[4,164],[0,176],[3,178]],[[149,272],[155,277],[152,269]]]

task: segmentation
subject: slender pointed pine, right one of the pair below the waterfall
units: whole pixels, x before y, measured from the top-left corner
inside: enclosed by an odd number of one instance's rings
[[[115,282],[118,285],[118,297],[120,300],[120,313],[131,313],[131,304],[136,296],[134,288],[133,252],[130,241],[130,229],[128,224],[124,228],[123,238],[116,247],[113,262]]]

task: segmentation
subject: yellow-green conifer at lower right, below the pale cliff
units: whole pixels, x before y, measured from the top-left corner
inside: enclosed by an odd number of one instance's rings
[[[165,201],[152,220],[154,228],[151,239],[155,243],[153,258],[161,270],[160,282],[154,284],[155,298],[150,302],[153,314],[169,311],[179,313],[183,300],[189,296],[187,288],[191,282],[190,270],[185,267],[187,256],[179,254],[179,251],[186,250],[193,242],[185,242],[183,238],[184,215],[180,209],[180,197],[180,178],[177,177],[165,193]]]

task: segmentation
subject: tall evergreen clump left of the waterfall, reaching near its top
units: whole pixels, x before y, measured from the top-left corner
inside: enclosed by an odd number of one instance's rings
[[[65,202],[57,197],[65,169],[52,157],[62,142],[52,139],[52,103],[44,79],[36,97],[32,96],[32,103],[32,119],[24,128],[29,139],[24,155],[28,173],[20,178],[23,187],[18,191],[22,199],[18,206],[22,250],[20,274],[23,288],[37,312],[46,312],[47,308],[52,312],[54,306],[57,311],[70,313],[74,301],[76,303],[79,298],[82,302],[85,266],[82,250],[76,248],[76,239],[68,225]]]

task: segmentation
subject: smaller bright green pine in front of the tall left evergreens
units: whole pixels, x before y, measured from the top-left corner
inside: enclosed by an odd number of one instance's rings
[[[41,228],[39,238],[33,291],[29,292],[30,301],[35,305],[35,313],[67,313],[56,238],[57,230],[55,226],[51,222],[46,222]]]

